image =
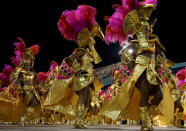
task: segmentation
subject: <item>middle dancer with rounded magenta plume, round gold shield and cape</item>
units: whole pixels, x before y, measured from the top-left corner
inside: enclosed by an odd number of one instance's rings
[[[91,63],[101,62],[94,48],[94,36],[104,39],[104,35],[95,22],[95,16],[95,8],[80,5],[76,10],[64,11],[58,22],[62,36],[77,42],[79,48],[58,67],[58,74],[51,85],[44,106],[66,116],[74,116],[75,128],[86,127],[84,119],[91,103],[91,89],[94,88],[96,81]]]

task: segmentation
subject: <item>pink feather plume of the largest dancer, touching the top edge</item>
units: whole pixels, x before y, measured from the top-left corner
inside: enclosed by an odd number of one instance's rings
[[[126,15],[134,9],[139,8],[144,4],[157,5],[157,0],[144,0],[139,2],[138,0],[121,0],[122,5],[113,5],[115,7],[115,13],[108,19],[109,24],[106,27],[106,44],[119,42],[121,45],[126,41],[127,35],[123,30],[123,22]]]

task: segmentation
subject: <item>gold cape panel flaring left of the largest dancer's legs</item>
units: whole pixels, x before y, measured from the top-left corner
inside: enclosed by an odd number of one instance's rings
[[[120,114],[123,115],[122,116],[123,118],[130,117],[129,114],[132,114],[131,118],[133,118],[134,120],[139,118],[139,115],[136,115],[138,113],[134,113],[135,111],[138,111],[139,108],[134,111],[133,107],[132,110],[130,110],[129,108],[127,108],[127,106],[131,101],[132,103],[134,103],[135,100],[139,100],[139,99],[135,99],[135,96],[140,97],[139,95],[132,96],[133,94],[137,93],[137,89],[135,89],[134,85],[146,68],[147,68],[146,66],[143,66],[141,64],[137,64],[135,66],[132,76],[125,83],[122,84],[121,91],[119,92],[119,94],[117,96],[112,97],[111,100],[106,101],[101,107],[100,110],[103,115],[113,120],[117,120]],[[131,100],[131,98],[134,99]],[[130,107],[132,105],[135,104],[131,104]],[[130,113],[130,111],[132,113]],[[134,118],[133,116],[137,116],[137,118]]]

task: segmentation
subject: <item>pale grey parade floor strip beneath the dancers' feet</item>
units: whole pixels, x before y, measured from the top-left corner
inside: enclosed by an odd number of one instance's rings
[[[90,126],[88,129],[74,129],[72,126],[6,126],[0,125],[0,131],[140,131],[140,126]],[[185,131],[186,128],[175,128],[175,127],[155,127],[154,131]]]

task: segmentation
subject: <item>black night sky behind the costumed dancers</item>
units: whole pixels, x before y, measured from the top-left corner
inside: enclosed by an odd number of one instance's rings
[[[169,3],[167,3],[169,2]],[[76,9],[80,4],[88,4],[97,8],[96,20],[105,31],[107,22],[105,15],[112,15],[112,4],[120,4],[120,0],[61,0],[60,2],[45,3],[4,3],[0,9],[0,70],[3,64],[10,64],[13,53],[13,42],[22,37],[27,47],[40,45],[40,52],[36,56],[35,69],[47,71],[49,63],[55,60],[60,64],[64,57],[69,56],[76,43],[65,40],[57,28],[57,22],[64,10]],[[13,5],[13,6],[10,6]],[[166,47],[167,58],[176,63],[186,60],[185,54],[185,5],[170,1],[158,1],[157,10],[153,17],[157,17],[154,33]],[[96,49],[103,62],[95,68],[119,61],[117,52],[119,44],[107,46],[96,38]]]

